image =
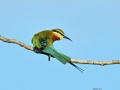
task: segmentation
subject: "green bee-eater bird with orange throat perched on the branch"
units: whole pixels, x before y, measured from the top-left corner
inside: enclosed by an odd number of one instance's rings
[[[72,41],[70,38],[65,36],[64,32],[59,29],[55,28],[52,30],[44,30],[35,34],[32,38],[32,44],[34,46],[34,51],[36,53],[41,53],[48,56],[48,60],[50,61],[50,57],[58,59],[61,63],[66,64],[70,63],[72,66],[77,68],[79,71],[83,72],[84,70],[76,66],[71,62],[71,58],[66,56],[60,52],[58,52],[54,46],[53,42],[56,40],[61,40],[66,38]]]

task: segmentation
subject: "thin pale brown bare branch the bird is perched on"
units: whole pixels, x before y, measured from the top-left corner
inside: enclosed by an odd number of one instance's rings
[[[26,45],[25,43],[22,43],[20,41],[17,41],[15,39],[8,39],[0,35],[0,40],[3,42],[7,43],[14,43],[17,44],[21,47],[24,47],[27,50],[33,50],[33,47]],[[71,59],[72,63],[77,63],[77,64],[93,64],[93,65],[111,65],[111,64],[120,64],[120,60],[109,60],[109,61],[98,61],[98,60],[76,60],[76,59]]]

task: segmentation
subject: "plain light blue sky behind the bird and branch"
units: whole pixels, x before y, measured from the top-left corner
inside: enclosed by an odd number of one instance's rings
[[[35,33],[56,27],[73,40],[55,42],[58,51],[74,59],[120,59],[120,0],[0,0],[6,38],[32,46]],[[0,41],[0,90],[120,90],[120,65],[77,65],[84,73]]]

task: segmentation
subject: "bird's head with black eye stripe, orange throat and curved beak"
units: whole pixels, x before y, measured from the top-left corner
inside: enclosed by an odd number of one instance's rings
[[[61,29],[55,28],[55,29],[52,29],[52,31],[53,31],[55,40],[61,40],[63,38],[66,38],[66,39],[72,41],[69,37],[65,36],[65,33]]]

